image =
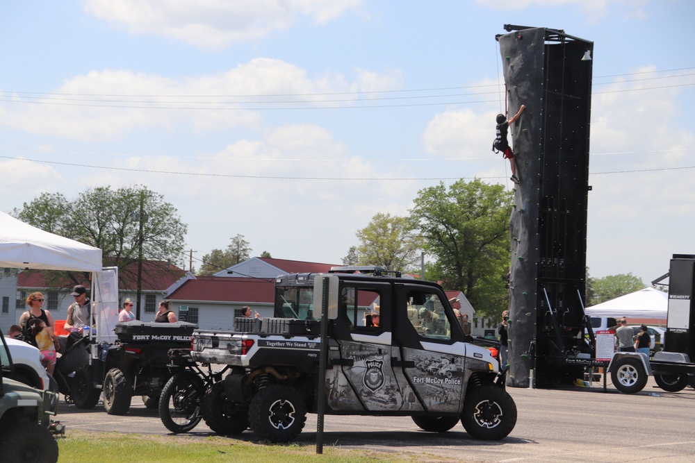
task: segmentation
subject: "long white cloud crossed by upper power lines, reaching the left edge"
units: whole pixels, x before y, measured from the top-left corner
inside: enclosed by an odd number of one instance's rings
[[[90,142],[149,129],[195,133],[230,127],[258,130],[265,108],[319,104],[326,99],[321,93],[397,84],[398,71],[386,71],[384,76],[363,71],[358,81],[350,83],[339,74],[312,79],[305,69],[270,58],[254,58],[223,73],[178,80],[125,70],[91,71],[67,79],[41,99],[3,95],[14,102],[0,105],[0,125]],[[277,96],[280,94],[299,96]]]

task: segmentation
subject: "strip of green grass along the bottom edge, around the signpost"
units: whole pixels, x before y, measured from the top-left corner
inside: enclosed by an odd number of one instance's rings
[[[372,450],[346,450],[323,447],[323,455],[316,454],[316,446],[297,444],[270,445],[230,439],[186,436],[132,435],[120,432],[68,432],[58,438],[60,461],[70,463],[133,462],[234,462],[244,463],[279,461],[283,463],[372,463],[416,461],[414,455],[398,455]]]

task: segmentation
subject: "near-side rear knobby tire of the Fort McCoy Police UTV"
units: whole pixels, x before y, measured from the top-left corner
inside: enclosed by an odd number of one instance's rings
[[[297,389],[291,386],[263,387],[249,407],[251,429],[262,440],[289,442],[302,432],[306,423],[306,405]]]

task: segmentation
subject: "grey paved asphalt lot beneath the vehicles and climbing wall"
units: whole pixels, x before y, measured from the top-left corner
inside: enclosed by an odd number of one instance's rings
[[[596,384],[595,384],[596,386]],[[695,461],[695,390],[665,392],[650,378],[639,394],[608,385],[567,389],[509,388],[518,409],[516,428],[502,441],[477,441],[463,426],[443,434],[420,431],[407,417],[326,416],[324,446],[368,448],[421,455],[421,462],[660,462]],[[139,398],[126,416],[111,416],[101,404],[77,410],[61,403],[57,419],[70,430],[167,435],[156,410]],[[207,437],[201,422],[188,436]],[[256,441],[246,431],[238,437]],[[316,445],[316,415],[309,414],[296,441]]]

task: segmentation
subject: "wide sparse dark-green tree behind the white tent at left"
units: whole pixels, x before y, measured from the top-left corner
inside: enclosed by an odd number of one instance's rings
[[[22,209],[15,208],[13,215],[42,230],[101,249],[104,264],[118,267],[122,287],[126,287],[124,281],[136,280],[137,266],[133,263],[140,259],[141,244],[143,260],[159,262],[162,267],[183,263],[188,226],[173,205],[145,186],[89,188],[72,200],[60,193],[43,193],[24,203]],[[66,278],[83,283],[87,279],[78,272],[56,273],[55,278],[56,282],[49,283],[64,285]]]

